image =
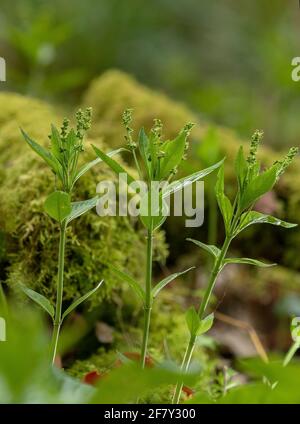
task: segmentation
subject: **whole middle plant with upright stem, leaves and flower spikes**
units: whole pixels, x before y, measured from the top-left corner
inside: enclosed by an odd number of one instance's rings
[[[159,292],[178,276],[188,272],[191,268],[178,272],[164,278],[154,287],[152,284],[152,250],[153,236],[164,223],[167,217],[167,199],[172,193],[181,190],[183,187],[192,184],[210,174],[218,168],[222,162],[219,162],[203,171],[196,172],[188,177],[171,182],[176,174],[177,167],[185,156],[188,148],[187,139],[193,124],[189,123],[180,131],[174,140],[162,140],[162,123],[160,120],[154,120],[154,126],[146,134],[144,128],[139,131],[138,140],[134,141],[132,137],[131,110],[128,109],[123,114],[123,123],[126,128],[125,140],[128,150],[133,156],[133,160],[139,175],[139,179],[146,185],[145,195],[140,197],[140,220],[147,231],[146,247],[146,270],[144,288],[132,276],[123,271],[112,269],[116,275],[126,281],[135,291],[141,300],[144,308],[144,330],[141,348],[141,365],[145,366],[147,355],[151,310],[154,299]],[[114,159],[106,155],[97,147],[93,146],[97,156],[106,162],[106,164],[117,174],[126,174],[128,183],[135,182],[135,179]],[[168,184],[162,184],[167,182]],[[159,199],[155,203],[153,199]]]

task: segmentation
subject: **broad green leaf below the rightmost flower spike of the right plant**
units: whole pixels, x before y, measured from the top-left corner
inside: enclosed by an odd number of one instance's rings
[[[261,196],[270,191],[277,178],[277,168],[272,166],[267,171],[253,178],[249,182],[245,191],[241,195],[240,208],[241,210],[247,209],[254,204]]]

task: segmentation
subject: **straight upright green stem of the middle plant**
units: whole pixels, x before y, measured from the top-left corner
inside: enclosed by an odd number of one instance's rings
[[[153,222],[151,219],[151,224],[148,229],[147,234],[147,264],[146,264],[146,297],[144,305],[144,332],[143,332],[143,342],[141,350],[141,365],[142,368],[145,368],[148,339],[149,339],[149,329],[150,329],[150,318],[151,318],[151,309],[152,309],[152,242],[153,242]]]

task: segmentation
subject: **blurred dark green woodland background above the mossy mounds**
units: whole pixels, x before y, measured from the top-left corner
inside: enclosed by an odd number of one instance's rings
[[[2,0],[1,89],[72,104],[118,68],[241,136],[298,145],[299,24],[297,0]]]

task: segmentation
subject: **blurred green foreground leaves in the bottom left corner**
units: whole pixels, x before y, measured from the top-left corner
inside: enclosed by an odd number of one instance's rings
[[[17,310],[6,315],[7,340],[0,342],[0,403],[86,402],[92,388],[50,368],[47,328],[41,316]]]

